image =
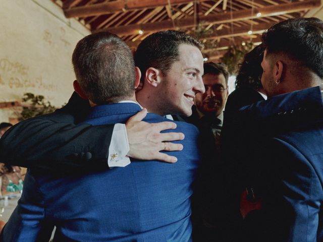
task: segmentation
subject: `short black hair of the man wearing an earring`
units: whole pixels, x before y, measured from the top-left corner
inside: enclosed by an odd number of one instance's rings
[[[295,18],[273,25],[262,34],[268,54],[284,54],[323,77],[323,21]]]

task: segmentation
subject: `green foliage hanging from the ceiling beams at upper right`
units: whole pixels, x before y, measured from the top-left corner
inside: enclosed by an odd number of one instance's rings
[[[222,63],[227,65],[230,75],[237,74],[239,64],[242,63],[244,55],[254,47],[252,42],[245,43],[245,45],[231,45],[228,51],[221,58]]]

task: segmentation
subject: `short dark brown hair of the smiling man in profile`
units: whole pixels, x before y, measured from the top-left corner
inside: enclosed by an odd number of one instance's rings
[[[135,64],[141,71],[142,80],[149,67],[161,70],[164,76],[174,62],[179,60],[179,45],[189,44],[202,49],[202,44],[192,36],[175,30],[160,31],[149,35],[135,52]]]

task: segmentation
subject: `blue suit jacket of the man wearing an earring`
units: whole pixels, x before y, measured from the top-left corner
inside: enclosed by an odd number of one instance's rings
[[[322,108],[319,88],[309,88],[244,107],[227,127],[231,199],[239,206],[245,187],[262,198],[247,216],[245,241],[323,240]]]

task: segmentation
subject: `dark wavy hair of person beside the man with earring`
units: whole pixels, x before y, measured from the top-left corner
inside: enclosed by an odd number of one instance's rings
[[[236,78],[236,88],[250,87],[254,90],[262,88],[261,62],[263,58],[264,47],[262,44],[254,47],[249,53],[246,53],[243,62],[239,64],[239,72]]]

